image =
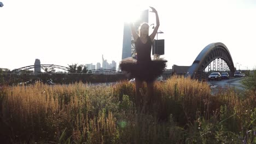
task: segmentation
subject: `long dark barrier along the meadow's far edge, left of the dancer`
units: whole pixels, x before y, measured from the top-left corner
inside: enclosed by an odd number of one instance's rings
[[[34,83],[37,81],[43,83],[69,84],[74,82],[83,83],[104,83],[126,80],[124,74],[60,74],[60,73],[39,73],[39,74],[0,74],[1,85],[13,85],[19,83]]]

